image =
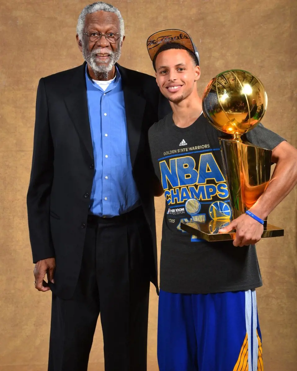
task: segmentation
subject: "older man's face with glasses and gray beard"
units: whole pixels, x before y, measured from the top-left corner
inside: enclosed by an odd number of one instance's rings
[[[104,11],[87,14],[84,33],[92,35],[94,32],[105,35],[120,34],[120,23],[117,15]],[[108,74],[120,58],[123,45],[121,37],[118,37],[115,43],[109,42],[105,36],[102,36],[97,42],[92,42],[87,35],[83,35],[82,40],[79,40],[78,35],[76,35],[76,39],[85,61],[91,66],[95,74]]]

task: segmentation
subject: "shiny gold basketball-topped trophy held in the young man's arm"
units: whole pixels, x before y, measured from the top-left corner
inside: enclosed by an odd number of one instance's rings
[[[209,210],[212,220],[206,221],[199,218],[199,202],[190,199],[185,209],[191,220],[181,223],[180,227],[206,241],[234,240],[235,230],[219,233],[219,229],[249,210],[270,180],[272,151],[256,147],[241,138],[263,118],[267,109],[267,94],[261,81],[251,73],[228,70],[209,82],[202,96],[202,109],[210,124],[228,134],[220,137],[219,142],[232,214],[229,207],[224,210],[224,202],[218,201]],[[264,220],[262,237],[283,235],[283,229]]]

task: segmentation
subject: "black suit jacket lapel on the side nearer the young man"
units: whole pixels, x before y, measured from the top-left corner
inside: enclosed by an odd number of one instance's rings
[[[137,83],[129,79],[129,70],[117,64],[122,78],[124,91],[125,113],[127,122],[128,143],[130,149],[131,165],[133,167],[140,142],[141,126],[143,122],[146,100],[139,95]],[[133,88],[134,86],[134,88]]]

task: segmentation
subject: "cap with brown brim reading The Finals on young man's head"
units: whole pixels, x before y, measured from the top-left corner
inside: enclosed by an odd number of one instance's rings
[[[163,30],[153,33],[147,39],[147,51],[150,59],[153,60],[160,47],[166,43],[177,43],[185,46],[195,54],[199,66],[199,53],[196,45],[193,43],[192,38],[185,31],[182,30]]]

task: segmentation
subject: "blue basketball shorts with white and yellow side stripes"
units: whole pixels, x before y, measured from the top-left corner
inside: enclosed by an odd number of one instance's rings
[[[157,354],[160,371],[263,371],[255,290],[160,290]]]

